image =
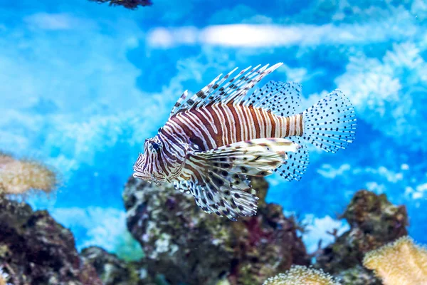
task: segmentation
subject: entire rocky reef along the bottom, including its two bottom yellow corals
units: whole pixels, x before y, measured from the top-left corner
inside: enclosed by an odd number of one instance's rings
[[[427,250],[406,237],[406,208],[385,195],[354,195],[342,214],[349,231],[315,254],[315,269],[301,266],[310,264],[297,234],[304,229],[279,205],[265,202],[263,178],[252,184],[258,214],[231,222],[205,214],[172,185],[131,177],[123,199],[127,227],[144,249],[140,261],[123,261],[100,247],[79,255],[73,234],[48,212],[1,199],[0,285],[381,285],[374,272],[386,285],[426,280]]]

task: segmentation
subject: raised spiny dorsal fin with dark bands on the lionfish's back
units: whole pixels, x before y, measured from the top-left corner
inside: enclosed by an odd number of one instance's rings
[[[269,73],[275,71],[275,69],[279,68],[282,64],[283,63],[277,63],[270,67],[268,67],[269,65],[267,64],[261,68],[260,65],[258,65],[252,69],[251,66],[249,66],[229,81],[227,81],[228,78],[231,77],[231,74],[234,73],[237,68],[234,68],[233,71],[230,71],[222,78],[222,74],[220,74],[196,94],[189,96],[188,93],[184,92],[184,94],[181,95],[179,100],[175,103],[170,117],[176,115],[176,113],[189,110],[191,108],[198,108],[204,105],[220,102],[231,103],[233,100],[243,98],[248,93],[248,90],[253,88],[258,81],[263,79]]]

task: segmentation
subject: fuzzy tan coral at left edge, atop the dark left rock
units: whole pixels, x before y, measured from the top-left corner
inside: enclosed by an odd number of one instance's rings
[[[32,189],[48,193],[56,183],[56,175],[48,167],[0,153],[0,193],[22,195]]]

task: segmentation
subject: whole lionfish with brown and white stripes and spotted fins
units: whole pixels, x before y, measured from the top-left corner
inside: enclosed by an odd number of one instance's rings
[[[270,81],[248,92],[282,64],[250,66],[231,78],[235,68],[194,95],[186,90],[167,123],[145,140],[133,176],[172,182],[204,212],[235,221],[256,214],[258,197],[248,177],[278,172],[300,180],[309,163],[307,142],[327,152],[347,147],[357,119],[342,91],[307,110],[300,108],[298,83]]]

